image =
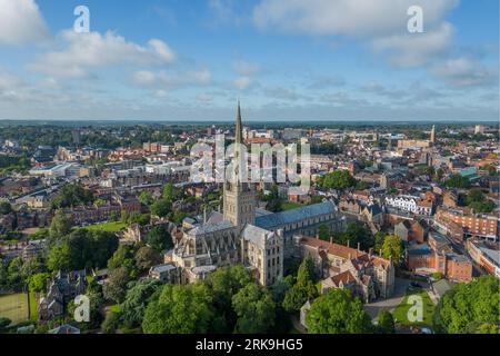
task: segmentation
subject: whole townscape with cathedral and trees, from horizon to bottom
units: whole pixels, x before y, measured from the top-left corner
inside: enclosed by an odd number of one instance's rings
[[[498,125],[234,115],[1,122],[0,333],[499,333]],[[307,194],[193,181],[221,135],[308,145]]]

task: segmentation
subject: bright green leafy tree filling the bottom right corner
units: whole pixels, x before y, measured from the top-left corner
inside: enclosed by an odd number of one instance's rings
[[[481,276],[469,284],[453,286],[438,304],[433,315],[438,332],[456,334],[471,323],[498,325],[500,281]]]

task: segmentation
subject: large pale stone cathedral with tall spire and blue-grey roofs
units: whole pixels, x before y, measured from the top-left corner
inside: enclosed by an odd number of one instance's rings
[[[243,144],[238,105],[236,146]],[[238,161],[236,149],[234,161]],[[223,186],[223,211],[213,211],[202,224],[184,229],[167,263],[176,266],[181,284],[204,279],[218,267],[242,264],[263,286],[283,277],[283,264],[293,249],[296,234],[314,235],[321,225],[331,231],[344,228],[344,218],[332,201],[294,210],[270,212],[257,208],[256,185],[234,177]]]

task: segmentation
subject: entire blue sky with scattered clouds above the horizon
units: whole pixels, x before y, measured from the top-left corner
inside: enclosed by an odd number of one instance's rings
[[[497,0],[0,0],[1,119],[496,120],[498,72]]]

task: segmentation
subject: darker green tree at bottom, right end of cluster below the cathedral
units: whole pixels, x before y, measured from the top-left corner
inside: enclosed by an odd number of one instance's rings
[[[256,283],[248,284],[232,297],[238,315],[234,332],[238,334],[264,334],[274,325],[274,301],[269,291]]]

